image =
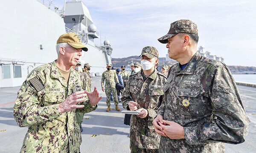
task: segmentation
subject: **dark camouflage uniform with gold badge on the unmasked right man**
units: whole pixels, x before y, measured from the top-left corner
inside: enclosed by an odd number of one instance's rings
[[[226,65],[196,53],[169,71],[158,114],[183,126],[185,139],[161,136],[160,153],[224,153],[223,142],[244,142],[250,121]]]

